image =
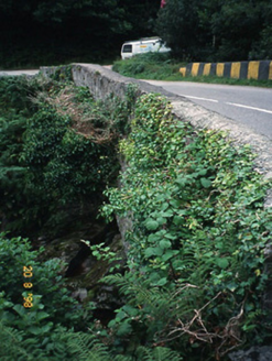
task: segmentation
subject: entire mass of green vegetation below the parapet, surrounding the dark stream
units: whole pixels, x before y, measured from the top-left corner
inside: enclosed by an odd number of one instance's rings
[[[173,118],[159,95],[134,103],[129,88],[122,101],[98,102],[66,76],[0,80],[0,211],[10,230],[0,236],[1,360],[209,361],[270,342],[261,297],[271,184],[250,149]],[[101,282],[118,287],[122,306],[108,324],[94,302],[70,298],[58,260],[20,237],[58,236],[98,208],[132,220],[122,273],[110,248],[90,247],[113,260]],[[32,307],[23,266],[33,269]]]

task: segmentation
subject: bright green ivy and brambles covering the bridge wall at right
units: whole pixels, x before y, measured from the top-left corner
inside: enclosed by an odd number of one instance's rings
[[[249,149],[196,132],[173,119],[166,100],[148,95],[120,151],[128,162],[122,188],[107,190],[102,208],[133,222],[129,272],[107,277],[127,298],[110,322],[116,335],[205,361],[262,342],[263,250],[272,221],[263,209],[269,185],[253,171]]]

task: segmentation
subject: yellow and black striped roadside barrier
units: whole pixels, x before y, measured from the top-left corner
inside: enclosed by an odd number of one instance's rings
[[[214,75],[236,79],[272,80],[272,61],[189,63],[181,67],[183,76]]]

